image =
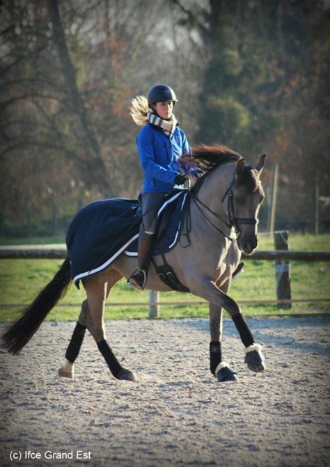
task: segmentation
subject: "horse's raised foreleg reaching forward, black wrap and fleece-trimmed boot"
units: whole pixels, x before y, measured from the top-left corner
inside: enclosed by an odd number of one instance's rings
[[[188,285],[193,294],[203,297],[203,299],[213,303],[214,306],[224,308],[228,312],[245,347],[246,365],[254,372],[265,370],[265,357],[262,355],[261,346],[256,344],[256,340],[239,309],[238,303],[226,293],[221,292],[217,285],[206,276],[195,276],[188,281]]]

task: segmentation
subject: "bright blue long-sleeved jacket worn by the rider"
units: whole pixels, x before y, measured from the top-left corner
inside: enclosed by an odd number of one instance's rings
[[[147,123],[136,137],[144,171],[142,193],[167,193],[180,173],[178,158],[190,152],[186,135],[178,126],[171,138],[161,128]]]

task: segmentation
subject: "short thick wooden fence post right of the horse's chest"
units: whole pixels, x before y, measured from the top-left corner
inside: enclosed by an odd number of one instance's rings
[[[274,232],[274,244],[276,250],[289,249],[288,230],[276,230]],[[276,297],[278,300],[290,300],[290,262],[276,261]],[[277,308],[291,308],[291,303],[278,303]]]

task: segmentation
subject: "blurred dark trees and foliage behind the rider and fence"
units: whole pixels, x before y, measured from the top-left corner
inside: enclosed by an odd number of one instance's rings
[[[322,1],[3,0],[0,8],[3,233],[27,209],[42,218],[56,204],[65,231],[81,204],[135,197],[139,128],[128,106],[157,82],[175,88],[191,144],[221,141],[252,163],[267,152],[266,186],[279,164],[278,225],[311,221],[315,184],[329,197]],[[320,215],[329,221],[329,204]]]

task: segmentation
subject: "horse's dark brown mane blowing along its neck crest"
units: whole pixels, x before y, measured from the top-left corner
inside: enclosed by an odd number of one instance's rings
[[[184,159],[185,156],[182,157]],[[204,175],[197,180],[194,184],[194,187],[191,188],[192,193],[197,193],[198,190],[201,188],[205,177],[214,170],[221,166],[222,164],[226,164],[227,162],[232,161],[239,161],[242,159],[242,156],[238,154],[238,152],[233,151],[230,148],[222,144],[216,144],[212,146],[208,145],[195,145],[191,148],[191,154],[189,157],[188,164],[191,166],[201,168],[205,173]]]

